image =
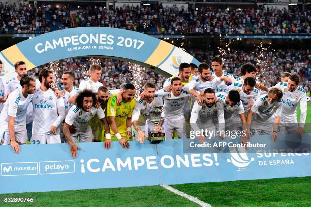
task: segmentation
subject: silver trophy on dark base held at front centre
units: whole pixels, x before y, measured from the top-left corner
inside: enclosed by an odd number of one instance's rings
[[[163,111],[153,111],[149,112],[150,117],[147,119],[148,122],[148,136],[151,143],[160,143],[161,141],[165,140],[165,134],[164,132],[159,132],[155,130],[157,126],[165,119],[164,117],[161,117],[161,113]]]

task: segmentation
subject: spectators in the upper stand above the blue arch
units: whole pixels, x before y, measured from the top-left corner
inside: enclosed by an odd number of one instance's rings
[[[149,33],[289,34],[309,33],[310,10],[181,8],[126,6],[16,5],[0,3],[1,33],[47,33],[54,30],[104,26]]]

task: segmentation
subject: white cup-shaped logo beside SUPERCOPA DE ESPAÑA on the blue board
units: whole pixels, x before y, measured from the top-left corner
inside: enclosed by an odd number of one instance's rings
[[[246,167],[255,160],[254,157],[251,157],[251,159],[248,158],[245,148],[231,147],[229,149],[231,159],[228,158],[227,162],[230,162],[234,166],[238,167],[238,170],[236,171],[248,171],[249,169],[246,169]]]

